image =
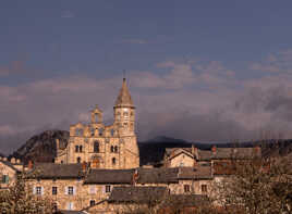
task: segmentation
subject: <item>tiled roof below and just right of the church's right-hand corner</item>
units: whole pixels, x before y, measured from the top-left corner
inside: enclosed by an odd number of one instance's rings
[[[178,168],[138,168],[139,184],[178,182]]]

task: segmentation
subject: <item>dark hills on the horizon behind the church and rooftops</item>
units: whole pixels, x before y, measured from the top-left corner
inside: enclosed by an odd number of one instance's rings
[[[20,149],[10,156],[21,159],[25,163],[28,160],[35,162],[52,162],[56,156],[56,139],[60,140],[60,146],[65,147],[69,139],[66,130],[46,130],[39,135],[33,136]],[[166,148],[192,147],[194,144],[198,149],[210,149],[211,146],[217,147],[234,147],[234,143],[202,143],[188,142],[182,139],[174,139],[165,136],[138,142],[141,164],[159,165]],[[292,140],[268,140],[256,142],[263,147],[264,156],[277,156],[292,154]],[[241,142],[238,147],[254,147],[255,142]]]

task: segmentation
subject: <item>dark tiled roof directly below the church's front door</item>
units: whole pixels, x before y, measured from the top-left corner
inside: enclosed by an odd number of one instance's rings
[[[90,169],[85,184],[131,184],[134,169]]]

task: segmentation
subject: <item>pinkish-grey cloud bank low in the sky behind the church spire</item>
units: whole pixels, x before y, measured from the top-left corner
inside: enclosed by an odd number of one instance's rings
[[[290,53],[281,54],[289,59]],[[279,61],[275,55],[267,59]],[[263,130],[292,137],[290,73],[263,71],[260,77],[239,79],[222,62],[196,60],[166,61],[154,71],[132,71],[129,76],[139,140],[157,135],[251,140]],[[0,149],[9,152],[33,134],[86,122],[95,104],[110,123],[121,84],[121,77],[74,75],[0,86]]]

